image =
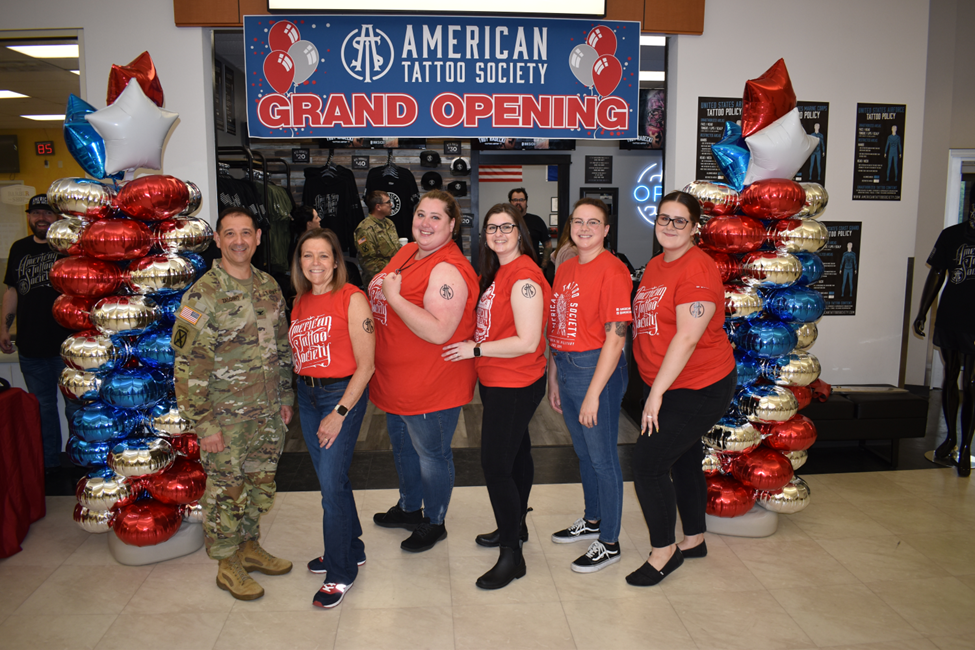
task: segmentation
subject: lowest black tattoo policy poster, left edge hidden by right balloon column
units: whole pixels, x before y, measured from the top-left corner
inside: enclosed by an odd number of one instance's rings
[[[824,316],[855,316],[860,277],[859,221],[824,221],[829,243],[819,251],[823,277],[813,285],[826,300]]]

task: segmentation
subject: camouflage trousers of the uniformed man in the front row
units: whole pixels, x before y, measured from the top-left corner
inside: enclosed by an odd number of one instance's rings
[[[274,505],[274,474],[288,431],[280,414],[223,429],[226,447],[201,452],[207,487],[200,499],[207,554],[231,557],[244,542],[261,536],[261,515]]]

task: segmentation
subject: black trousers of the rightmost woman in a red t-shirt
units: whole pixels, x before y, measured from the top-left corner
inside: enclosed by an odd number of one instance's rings
[[[637,439],[633,485],[654,548],[674,543],[677,510],[685,536],[706,530],[708,488],[701,437],[725,414],[737,381],[737,371],[732,370],[705,388],[668,390],[660,406],[660,429]],[[644,387],[644,399],[649,394],[649,387]]]

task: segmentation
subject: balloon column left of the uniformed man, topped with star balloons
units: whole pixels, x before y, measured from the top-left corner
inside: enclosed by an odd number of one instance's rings
[[[51,269],[62,295],[54,318],[77,333],[61,345],[66,399],[83,406],[70,422],[67,452],[89,470],[77,487],[74,520],[93,533],[114,530],[134,546],[171,538],[184,518],[199,520],[206,474],[200,447],[173,392],[170,332],[180,296],[206,265],[197,253],[210,226],[189,216],[200,190],[172,176],[113,175],[160,166],[176,113],[160,109],[162,86],[143,53],[113,66],[107,108],[71,97],[65,135],[88,178],[62,178],[48,201],[66,219],[48,243],[68,255]]]

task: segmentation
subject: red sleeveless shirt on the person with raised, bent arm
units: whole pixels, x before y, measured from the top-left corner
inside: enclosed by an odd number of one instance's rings
[[[416,243],[399,249],[369,283],[368,298],[376,325],[376,373],[369,382],[369,399],[386,413],[396,415],[420,415],[463,406],[474,397],[477,380],[473,359],[453,362],[441,356],[444,345],[474,337],[478,292],[474,268],[453,242],[447,242],[420,260],[414,259],[418,250]],[[450,340],[433,344],[414,334],[390,308],[383,294],[383,280],[400,269],[403,278],[400,295],[423,307],[430,274],[441,262],[451,264],[464,278],[467,303]]]

